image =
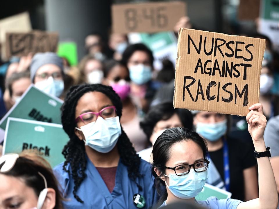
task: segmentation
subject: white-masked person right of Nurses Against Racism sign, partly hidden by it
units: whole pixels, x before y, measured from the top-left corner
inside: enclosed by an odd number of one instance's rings
[[[271,94],[274,79],[269,65],[262,66],[260,78],[260,102],[267,119],[279,114],[278,96]]]

